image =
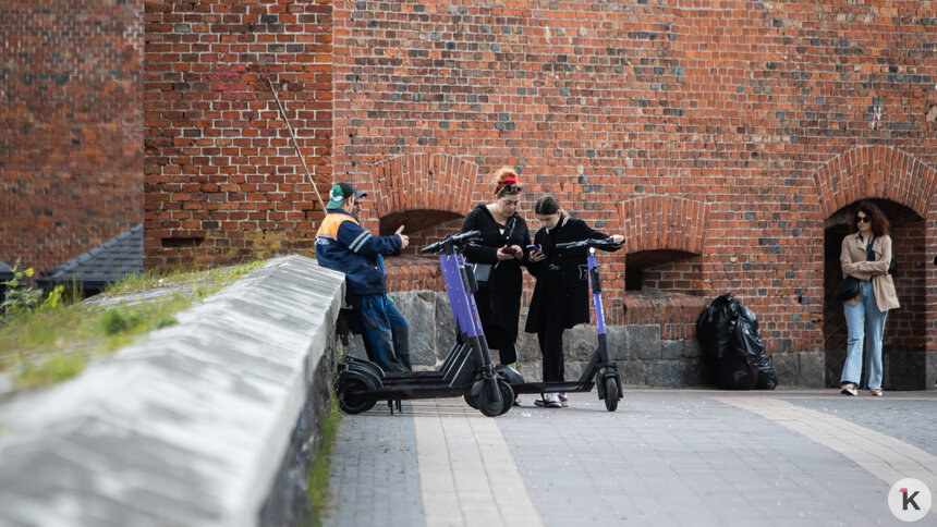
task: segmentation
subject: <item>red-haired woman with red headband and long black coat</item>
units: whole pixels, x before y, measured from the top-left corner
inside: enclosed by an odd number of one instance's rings
[[[478,316],[488,347],[498,350],[500,364],[518,366],[518,322],[521,312],[526,247],[531,243],[527,222],[518,216],[521,185],[518,172],[504,167],[495,172],[495,200],[475,207],[462,223],[462,232],[480,231],[479,245],[465,249],[468,262],[478,264],[480,282],[475,293]],[[485,277],[487,274],[487,277]]]

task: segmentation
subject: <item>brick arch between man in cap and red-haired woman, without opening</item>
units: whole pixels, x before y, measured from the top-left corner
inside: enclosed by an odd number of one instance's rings
[[[478,166],[446,154],[411,154],[370,167],[380,218],[407,211],[459,217],[472,205]]]

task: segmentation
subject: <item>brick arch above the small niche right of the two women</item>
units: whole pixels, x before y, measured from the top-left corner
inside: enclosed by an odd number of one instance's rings
[[[679,250],[703,254],[709,205],[674,196],[641,196],[620,205],[625,254]]]

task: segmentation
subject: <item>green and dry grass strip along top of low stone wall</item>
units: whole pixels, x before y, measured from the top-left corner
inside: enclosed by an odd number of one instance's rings
[[[129,277],[92,302],[12,317],[0,326],[0,372],[12,375],[19,389],[47,387],[75,377],[92,358],[177,323],[177,312],[258,267],[255,261],[188,273]],[[133,298],[134,293],[157,287],[168,289],[161,296]]]

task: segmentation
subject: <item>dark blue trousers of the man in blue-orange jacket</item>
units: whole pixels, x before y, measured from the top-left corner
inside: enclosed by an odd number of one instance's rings
[[[361,333],[367,358],[385,371],[411,371],[410,326],[385,294],[349,296],[352,330]]]

